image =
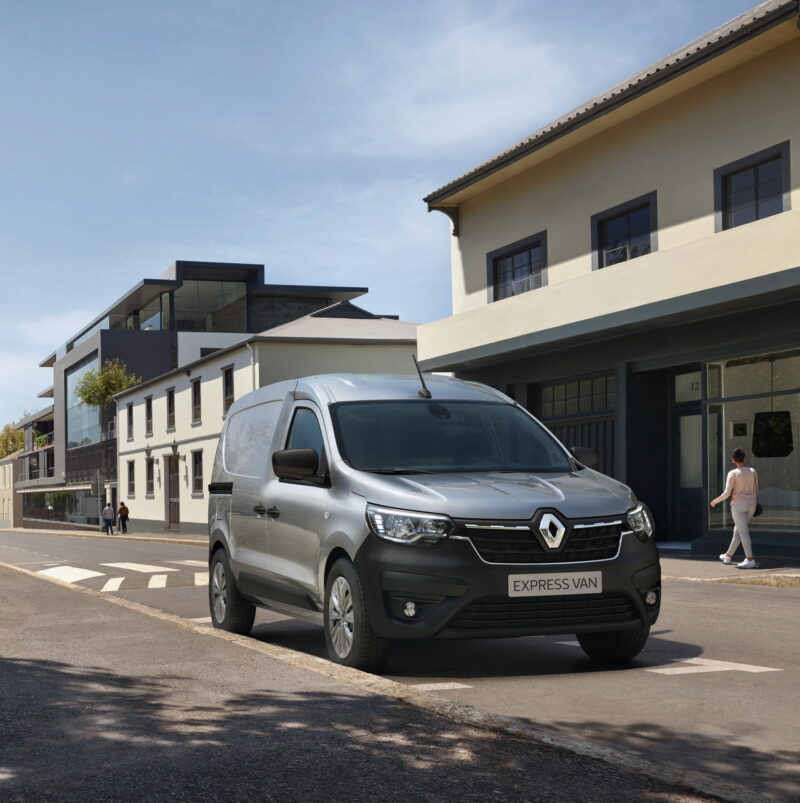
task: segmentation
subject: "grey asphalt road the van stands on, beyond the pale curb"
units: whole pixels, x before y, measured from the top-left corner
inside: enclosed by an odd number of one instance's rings
[[[196,546],[0,533],[0,562],[61,579],[69,567],[74,582],[98,591],[122,578],[105,593],[194,620],[208,617],[204,561]],[[569,636],[429,641],[397,644],[387,677],[756,795],[797,799],[798,603],[796,589],[670,580],[631,668],[598,670]],[[319,628],[267,611],[252,635],[325,654]]]

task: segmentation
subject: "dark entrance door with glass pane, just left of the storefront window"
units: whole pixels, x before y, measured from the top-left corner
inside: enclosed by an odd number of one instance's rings
[[[672,482],[670,532],[677,540],[703,532],[703,416],[699,407],[674,410],[672,415]]]

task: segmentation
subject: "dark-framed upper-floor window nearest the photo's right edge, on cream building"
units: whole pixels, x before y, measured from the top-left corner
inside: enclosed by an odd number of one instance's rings
[[[714,171],[714,222],[724,231],[790,207],[789,141]]]

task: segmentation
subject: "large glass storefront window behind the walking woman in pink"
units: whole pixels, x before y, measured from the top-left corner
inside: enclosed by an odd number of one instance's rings
[[[800,530],[800,350],[706,366],[708,492],[725,487],[736,447],[759,476],[764,514],[753,530]],[[730,508],[709,512],[711,529],[730,529]]]

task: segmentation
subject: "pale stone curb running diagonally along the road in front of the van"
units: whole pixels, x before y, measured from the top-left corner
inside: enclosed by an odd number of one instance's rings
[[[584,758],[602,761],[613,767],[646,775],[678,790],[683,789],[699,793],[715,800],[727,800],[733,803],[756,803],[757,801],[763,800],[763,797],[755,792],[730,786],[724,781],[702,773],[669,769],[661,764],[655,764],[646,759],[641,759],[611,748],[601,747],[581,739],[554,734],[535,725],[520,723],[512,717],[487,714],[466,703],[448,700],[435,694],[411,688],[403,683],[388,680],[379,675],[371,675],[358,669],[351,669],[350,667],[332,663],[324,658],[306,655],[305,653],[290,650],[286,647],[279,647],[276,644],[256,641],[248,636],[228,633],[225,630],[219,630],[207,625],[203,626],[189,619],[176,616],[175,614],[166,613],[147,605],[142,605],[139,602],[102,594],[94,589],[67,583],[63,580],[57,580],[54,577],[41,575],[30,569],[23,569],[20,566],[13,566],[8,563],[0,562],[0,568],[26,574],[49,583],[55,583],[63,588],[104,600],[112,605],[119,605],[122,608],[127,608],[136,613],[141,613],[154,619],[160,619],[163,622],[170,622],[171,624],[177,625],[184,630],[197,633],[198,635],[218,638],[223,641],[238,644],[240,647],[261,653],[274,660],[283,661],[296,669],[315,672],[316,674],[337,680],[341,683],[357,686],[371,694],[399,700],[464,725],[483,728],[485,730],[495,731],[518,738],[530,739],[531,741],[535,741],[547,747],[566,750],[567,752],[583,756]]]

